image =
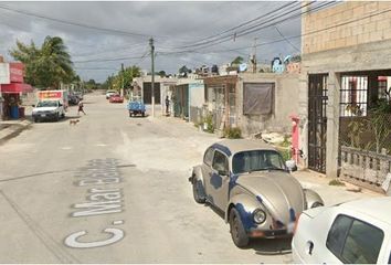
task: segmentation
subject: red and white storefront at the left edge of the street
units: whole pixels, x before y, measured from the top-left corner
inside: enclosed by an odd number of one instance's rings
[[[0,63],[0,118],[18,119],[24,117],[21,95],[32,92],[31,85],[23,83],[22,63]]]

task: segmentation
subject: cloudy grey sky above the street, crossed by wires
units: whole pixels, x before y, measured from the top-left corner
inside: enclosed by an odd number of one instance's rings
[[[285,20],[283,15],[298,6],[283,1],[0,1],[0,54],[12,61],[9,51],[17,40],[41,45],[46,35],[61,36],[77,74],[96,82],[117,73],[121,63],[150,71],[151,38],[156,72],[176,74],[182,65],[223,65],[236,56],[247,62],[254,52],[257,62],[270,64],[276,56],[299,53],[300,39],[289,36],[300,34],[300,18]],[[250,32],[241,35],[246,28]]]

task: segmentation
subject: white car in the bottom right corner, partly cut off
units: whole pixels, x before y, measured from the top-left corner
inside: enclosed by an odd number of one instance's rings
[[[292,241],[294,263],[391,264],[391,198],[304,211]]]

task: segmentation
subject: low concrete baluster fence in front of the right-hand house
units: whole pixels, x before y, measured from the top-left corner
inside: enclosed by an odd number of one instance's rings
[[[381,186],[391,173],[391,156],[341,146],[340,178],[350,183],[384,192]]]

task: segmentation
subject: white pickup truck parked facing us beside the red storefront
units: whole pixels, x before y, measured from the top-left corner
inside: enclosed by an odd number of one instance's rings
[[[35,123],[47,119],[57,121],[65,117],[64,104],[61,100],[38,102],[32,110],[32,117]]]

